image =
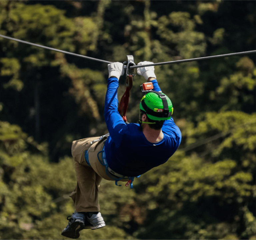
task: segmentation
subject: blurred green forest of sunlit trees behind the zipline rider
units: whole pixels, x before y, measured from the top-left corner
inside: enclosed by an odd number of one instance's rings
[[[0,34],[156,63],[255,50],[255,11],[254,0],[0,1]],[[103,180],[107,226],[81,239],[256,238],[255,63],[253,54],[155,66],[181,145],[133,189]],[[63,239],[71,143],[107,132],[107,77],[105,63],[0,38],[0,239]],[[129,122],[143,82],[134,77]],[[124,90],[121,77],[119,99]]]

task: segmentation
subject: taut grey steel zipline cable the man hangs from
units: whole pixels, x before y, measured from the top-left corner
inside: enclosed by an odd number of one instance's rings
[[[35,44],[35,43],[19,40],[19,39],[12,38],[12,37],[7,37],[7,36],[1,35],[1,34],[0,34],[0,37],[6,38],[6,39],[9,39],[9,40],[14,40],[14,41],[21,42],[21,43],[30,44],[30,45],[36,46],[36,47],[41,47],[41,48],[49,49],[49,50],[56,51],[56,52],[61,52],[61,53],[70,54],[70,55],[77,56],[77,57],[82,57],[82,58],[98,61],[98,62],[112,63],[112,62],[101,60],[101,59],[97,59],[97,58],[87,57],[87,56],[84,56],[84,55],[80,55],[80,54],[76,54],[76,53],[71,53],[71,52],[59,50],[59,49],[56,49],[56,48],[46,47],[46,46],[43,46],[43,45],[39,45],[39,44]],[[135,65],[135,66],[130,66],[130,68],[139,68],[139,67],[147,67],[147,66],[158,66],[158,65],[166,65],[166,64],[174,64],[174,63],[184,63],[184,62],[193,62],[193,61],[201,61],[201,60],[208,60],[208,59],[213,59],[213,58],[231,57],[231,56],[246,55],[246,54],[253,54],[253,53],[256,53],[256,50],[246,51],[246,52],[237,52],[237,53],[227,53],[227,54],[208,56],[208,57],[182,59],[182,60],[175,60],[175,61],[169,61],[169,62],[152,63],[152,64],[139,65],[139,66]]]

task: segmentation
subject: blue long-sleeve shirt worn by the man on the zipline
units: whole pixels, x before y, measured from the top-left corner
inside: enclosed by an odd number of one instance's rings
[[[161,91],[157,80],[152,81],[154,91]],[[110,136],[105,143],[109,167],[125,176],[135,177],[165,163],[177,150],[181,132],[173,119],[162,127],[164,138],[158,143],[149,142],[139,124],[125,124],[118,112],[118,79],[110,77],[105,99],[104,117]]]

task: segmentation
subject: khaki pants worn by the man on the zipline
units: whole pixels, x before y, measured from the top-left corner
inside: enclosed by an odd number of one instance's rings
[[[91,141],[99,137],[90,137],[72,142],[71,153],[74,159],[77,185],[70,197],[75,203],[77,212],[98,212],[100,206],[98,204],[98,191],[102,178],[114,181],[106,174],[105,166],[101,165],[97,154],[102,150],[106,137],[91,144]],[[85,160],[85,151],[89,153],[89,166]],[[99,154],[102,161],[102,154]],[[128,181],[122,179],[121,181]]]

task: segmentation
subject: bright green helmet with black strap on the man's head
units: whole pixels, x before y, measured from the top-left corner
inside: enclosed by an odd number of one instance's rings
[[[148,118],[155,121],[171,119],[172,102],[164,93],[150,91],[143,96],[140,109],[146,112]]]

